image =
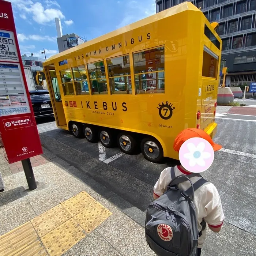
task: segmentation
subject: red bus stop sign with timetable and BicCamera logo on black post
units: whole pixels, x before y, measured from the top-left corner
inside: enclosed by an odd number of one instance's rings
[[[22,161],[29,189],[37,188],[30,157],[42,154],[10,2],[0,0],[0,133],[9,163]]]

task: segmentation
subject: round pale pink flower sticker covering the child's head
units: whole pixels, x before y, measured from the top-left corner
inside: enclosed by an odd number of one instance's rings
[[[179,159],[181,165],[189,172],[200,173],[212,165],[214,151],[207,140],[191,138],[181,145]]]

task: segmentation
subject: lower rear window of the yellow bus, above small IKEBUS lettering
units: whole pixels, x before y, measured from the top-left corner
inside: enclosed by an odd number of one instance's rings
[[[218,59],[214,52],[204,46],[202,76],[217,79]]]

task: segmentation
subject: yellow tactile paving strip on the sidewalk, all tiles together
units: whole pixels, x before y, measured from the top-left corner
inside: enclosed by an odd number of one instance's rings
[[[62,255],[111,214],[82,191],[0,236],[0,256]]]

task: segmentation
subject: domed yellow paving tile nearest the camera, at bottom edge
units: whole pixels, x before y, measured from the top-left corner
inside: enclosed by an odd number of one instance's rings
[[[79,242],[85,233],[72,218],[41,238],[50,256],[59,256]]]

